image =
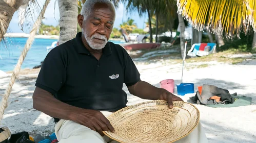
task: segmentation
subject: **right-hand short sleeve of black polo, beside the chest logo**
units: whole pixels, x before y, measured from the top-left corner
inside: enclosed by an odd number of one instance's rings
[[[124,60],[125,60],[125,79],[124,83],[126,86],[132,86],[141,80],[141,75],[137,70],[134,62],[132,61],[130,55],[124,50]]]

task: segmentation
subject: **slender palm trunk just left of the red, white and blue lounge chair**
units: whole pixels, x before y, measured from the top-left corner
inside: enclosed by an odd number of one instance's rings
[[[178,15],[179,18],[179,27],[181,30],[180,34],[180,39],[181,39],[181,57],[183,58],[184,54],[184,47],[185,47],[185,23],[184,23],[184,18],[182,17],[181,14]]]

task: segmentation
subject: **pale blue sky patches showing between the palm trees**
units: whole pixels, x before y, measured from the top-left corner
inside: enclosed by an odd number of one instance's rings
[[[45,2],[45,0],[38,1],[38,3],[41,6],[43,6],[44,2]],[[53,26],[58,25],[58,20],[60,19],[60,12],[58,11],[57,2],[56,2],[55,9],[54,9],[54,3],[55,3],[55,0],[52,0],[46,9],[46,12],[44,15],[45,19],[43,20],[43,22],[46,25],[53,25]],[[137,24],[138,28],[141,28],[141,29],[145,28],[145,21],[147,20],[146,15],[144,17],[140,17],[137,12],[127,13],[126,10],[124,10],[124,9],[125,9],[125,7],[123,4],[120,4],[119,8],[116,9],[114,27],[118,28],[120,26],[120,24],[122,23],[122,20],[126,21],[128,19],[128,17],[130,17],[130,18],[134,19],[134,22]],[[33,22],[31,22],[31,25],[33,25]],[[24,32],[29,33],[30,29],[27,28],[24,30]],[[23,33],[23,31],[21,30],[21,27],[19,27],[19,25],[18,25],[18,13],[17,12],[14,13],[7,32]]]

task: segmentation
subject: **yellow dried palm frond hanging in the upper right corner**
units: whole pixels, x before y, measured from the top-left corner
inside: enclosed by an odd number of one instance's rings
[[[197,30],[204,26],[210,32],[226,38],[239,37],[248,25],[255,29],[255,0],[177,0],[178,13]]]

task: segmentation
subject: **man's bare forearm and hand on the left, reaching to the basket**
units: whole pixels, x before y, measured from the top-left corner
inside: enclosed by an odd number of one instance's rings
[[[54,98],[50,92],[39,87],[36,87],[33,93],[33,108],[49,116],[84,125],[102,136],[104,135],[102,131],[114,132],[114,128],[100,111],[82,109],[63,103]]]

